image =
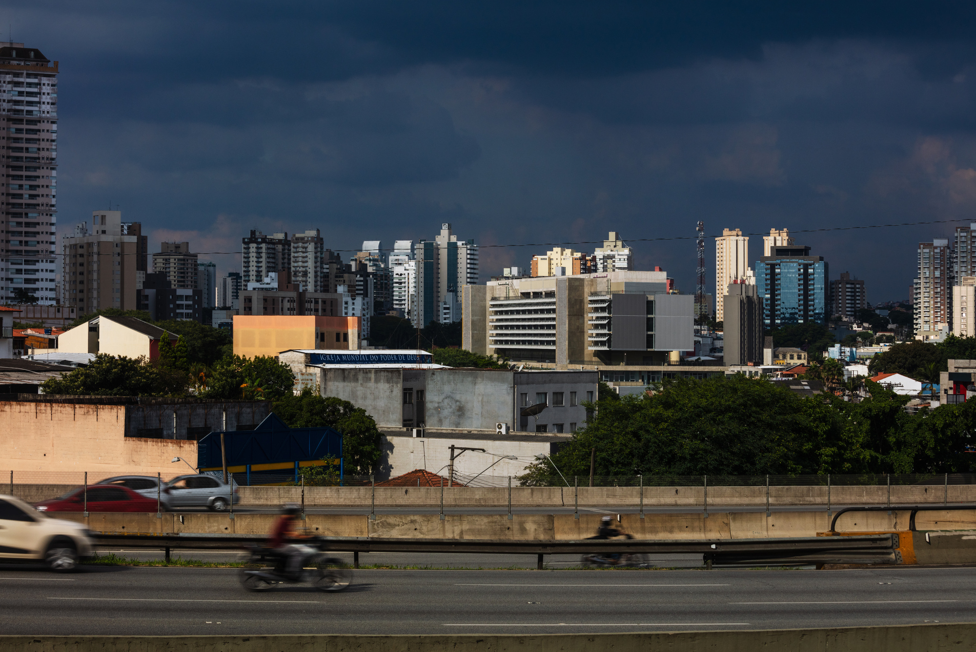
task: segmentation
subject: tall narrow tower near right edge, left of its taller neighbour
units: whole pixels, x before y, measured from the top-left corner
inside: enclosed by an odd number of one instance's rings
[[[953,248],[948,238],[918,243],[915,274],[915,339],[940,338],[952,329]]]

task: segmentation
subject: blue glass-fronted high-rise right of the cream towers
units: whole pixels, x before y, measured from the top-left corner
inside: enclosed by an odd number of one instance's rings
[[[755,264],[765,327],[827,323],[828,268],[824,258],[810,256],[809,247],[797,245],[773,246],[772,254]]]

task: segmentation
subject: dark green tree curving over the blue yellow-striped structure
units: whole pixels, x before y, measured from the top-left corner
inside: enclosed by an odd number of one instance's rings
[[[383,456],[376,421],[362,408],[335,396],[322,397],[311,387],[274,403],[274,414],[289,428],[335,428],[343,435],[346,473],[369,475]]]

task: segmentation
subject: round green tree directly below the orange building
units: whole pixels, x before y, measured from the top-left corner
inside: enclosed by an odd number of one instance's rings
[[[257,387],[261,391],[257,391]],[[208,387],[200,395],[221,400],[245,396],[257,400],[278,400],[291,395],[294,387],[295,374],[291,367],[273,357],[231,355],[211,368]]]

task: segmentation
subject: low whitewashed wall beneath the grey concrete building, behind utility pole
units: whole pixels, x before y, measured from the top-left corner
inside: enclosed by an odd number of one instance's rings
[[[409,473],[414,469],[427,469],[447,475],[447,465],[450,461],[451,445],[468,448],[483,448],[487,453],[466,451],[455,459],[455,472],[467,477],[483,474],[478,481],[507,484],[503,476],[521,475],[525,468],[535,462],[536,455],[551,454],[551,443],[548,441],[498,441],[487,439],[442,439],[440,437],[396,437],[384,435],[383,449],[386,456],[387,469],[383,479]],[[494,453],[494,455],[490,455]],[[513,455],[517,460],[503,460],[499,456]],[[495,464],[497,463],[497,464]],[[494,465],[494,466],[492,466]],[[489,469],[489,467],[491,467]],[[486,470],[487,469],[487,470]],[[2,481],[2,478],[0,478]],[[464,482],[462,478],[460,481]],[[512,478],[513,484],[518,480]]]

